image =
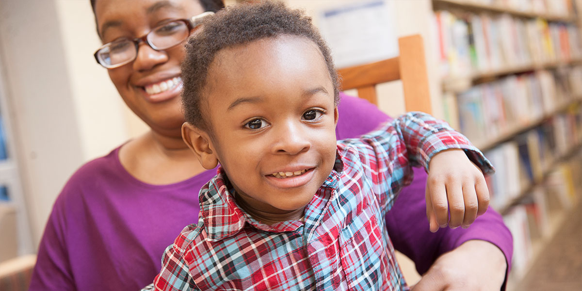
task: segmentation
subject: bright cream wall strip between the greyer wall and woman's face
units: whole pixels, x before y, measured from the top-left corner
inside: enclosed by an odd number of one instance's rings
[[[83,159],[111,151],[127,138],[123,116],[125,104],[109,80],[107,69],[95,62],[93,53],[101,46],[89,1],[56,0],[61,42]]]

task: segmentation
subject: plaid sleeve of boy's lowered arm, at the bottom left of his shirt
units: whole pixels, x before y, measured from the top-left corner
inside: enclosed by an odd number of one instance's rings
[[[176,241],[182,241],[182,234]],[[182,245],[182,243],[178,243]],[[177,291],[177,290],[198,290],[194,285],[192,276],[186,260],[184,260],[183,251],[179,250],[177,244],[174,243],[167,247],[162,255],[162,269],[154,279],[154,289],[150,286],[142,290],[162,290],[162,291]],[[150,288],[150,289],[148,289]]]

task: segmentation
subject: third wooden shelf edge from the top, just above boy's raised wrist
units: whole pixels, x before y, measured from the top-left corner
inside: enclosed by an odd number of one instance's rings
[[[486,138],[485,140],[487,141],[477,141],[474,143],[474,145],[481,151],[491,150],[491,148],[495,147],[495,145],[508,141],[517,134],[527,132],[527,130],[540,126],[546,119],[551,118],[557,113],[566,111],[566,109],[569,108],[570,106],[574,104],[579,104],[580,102],[582,102],[582,96],[576,96],[575,98],[573,98],[573,100],[570,100],[565,104],[558,105],[555,109],[553,109],[549,113],[544,114],[544,116],[542,116],[541,118],[531,120],[531,122],[528,122],[525,125],[513,126],[512,129],[508,130],[505,133],[500,134],[499,136],[488,139]]]

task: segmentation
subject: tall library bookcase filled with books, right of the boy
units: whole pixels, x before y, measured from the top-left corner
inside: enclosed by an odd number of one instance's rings
[[[514,237],[508,290],[580,200],[579,0],[432,0],[445,118],[496,166]]]

